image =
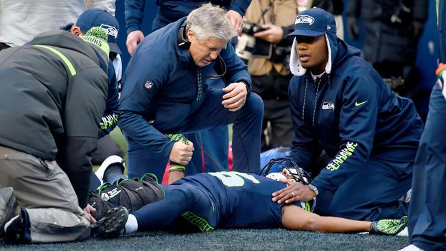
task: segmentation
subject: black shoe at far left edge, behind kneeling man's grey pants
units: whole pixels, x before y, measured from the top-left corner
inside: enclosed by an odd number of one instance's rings
[[[0,189],[0,240],[5,237],[5,226],[14,217],[16,206],[14,189],[12,187]]]

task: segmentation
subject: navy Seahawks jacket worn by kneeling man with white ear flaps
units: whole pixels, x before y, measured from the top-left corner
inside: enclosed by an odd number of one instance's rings
[[[320,193],[336,189],[368,158],[413,162],[406,153],[416,151],[423,132],[410,99],[397,97],[358,49],[326,36],[324,75],[314,80],[300,64],[290,64],[295,76],[288,89],[295,126],[291,157],[307,169],[321,150],[333,158],[312,182]]]

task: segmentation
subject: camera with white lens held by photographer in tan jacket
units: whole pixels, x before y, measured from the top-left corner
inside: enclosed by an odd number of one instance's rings
[[[263,39],[256,39],[253,34],[266,30],[260,25],[244,22],[242,35],[238,37],[235,46],[235,53],[239,58],[248,64],[248,61],[255,57],[266,58],[274,63],[286,64],[286,57],[290,54],[291,48],[288,46],[278,46]]]

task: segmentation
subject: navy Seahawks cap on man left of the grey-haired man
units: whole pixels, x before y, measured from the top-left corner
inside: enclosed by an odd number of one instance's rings
[[[121,53],[121,50],[116,44],[119,23],[115,19],[115,16],[106,10],[91,8],[82,12],[76,21],[76,26],[80,27],[80,30],[84,33],[91,29],[91,27],[101,27],[108,36],[107,42],[110,46],[110,51]]]

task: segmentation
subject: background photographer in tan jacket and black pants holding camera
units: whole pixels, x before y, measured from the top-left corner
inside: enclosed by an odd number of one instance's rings
[[[331,11],[332,1],[259,0],[246,10],[246,21],[236,53],[248,65],[253,91],[263,99],[261,151],[291,145],[292,122],[288,82],[294,18],[302,8],[318,6]],[[269,124],[269,126],[268,126]],[[266,132],[265,132],[266,131]]]

